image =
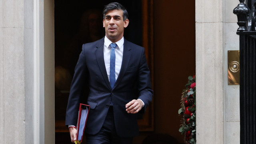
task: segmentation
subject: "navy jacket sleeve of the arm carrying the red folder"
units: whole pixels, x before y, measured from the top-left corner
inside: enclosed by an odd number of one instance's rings
[[[76,64],[74,77],[70,86],[70,94],[66,109],[66,126],[76,126],[77,123],[79,104],[84,92],[84,85],[88,74],[84,47],[85,44],[82,46],[82,52]]]

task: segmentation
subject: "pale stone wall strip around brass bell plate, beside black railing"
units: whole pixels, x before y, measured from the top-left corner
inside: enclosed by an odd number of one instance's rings
[[[240,85],[228,85],[228,50],[239,50],[237,17],[233,9],[239,0],[225,0],[224,18],[224,142],[225,144],[240,144]]]

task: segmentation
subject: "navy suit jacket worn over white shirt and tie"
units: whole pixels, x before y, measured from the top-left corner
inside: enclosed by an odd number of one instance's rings
[[[133,99],[144,102],[141,111],[146,110],[152,100],[153,91],[150,71],[143,47],[124,40],[124,52],[120,73],[113,89],[108,80],[104,55],[104,38],[83,44],[77,62],[66,110],[66,125],[76,125],[78,107],[87,83],[90,105],[85,132],[97,134],[102,127],[112,98],[116,132],[120,137],[133,137],[139,134],[137,114],[128,114],[125,105]]]

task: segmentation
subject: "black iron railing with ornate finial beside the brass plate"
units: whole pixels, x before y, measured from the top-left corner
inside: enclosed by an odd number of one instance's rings
[[[240,144],[256,144],[256,0],[239,0],[234,8],[240,36]]]

